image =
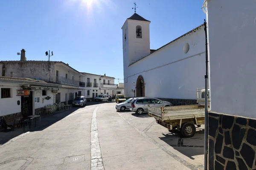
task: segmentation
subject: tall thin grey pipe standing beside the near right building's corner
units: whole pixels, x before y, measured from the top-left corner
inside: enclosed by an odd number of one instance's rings
[[[208,38],[207,38],[207,23],[204,20],[204,31],[205,31],[205,63],[206,63],[206,74],[205,88],[204,88],[204,170],[208,169]]]

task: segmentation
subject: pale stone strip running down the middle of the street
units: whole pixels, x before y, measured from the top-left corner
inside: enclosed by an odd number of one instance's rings
[[[93,111],[93,118],[91,123],[91,170],[104,170],[102,154],[99,145],[99,135],[97,128],[97,110],[99,106]]]

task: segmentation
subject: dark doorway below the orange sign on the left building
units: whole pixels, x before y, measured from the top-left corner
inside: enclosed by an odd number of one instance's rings
[[[29,96],[21,96],[21,114],[23,117],[33,115],[33,91]]]

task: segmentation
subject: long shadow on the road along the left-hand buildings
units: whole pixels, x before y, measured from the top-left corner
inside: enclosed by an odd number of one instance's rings
[[[25,131],[23,131],[23,125],[22,125],[22,128],[15,127],[15,130],[12,130],[9,132],[1,132],[0,131],[0,146],[5,144],[8,141],[12,141],[13,138],[15,138],[23,133],[44,130],[47,127],[60,121],[61,119],[64,119],[66,116],[70,115],[71,113],[77,111],[79,108],[86,108],[87,106],[99,105],[99,104],[102,104],[102,102],[87,102],[86,106],[83,106],[83,107],[73,106],[73,108],[70,109],[69,111],[63,109],[61,111],[55,111],[52,115],[41,115],[41,125],[39,125],[39,119],[37,119],[36,127],[35,127],[35,120],[33,120],[31,129],[29,129],[28,126],[26,126]]]

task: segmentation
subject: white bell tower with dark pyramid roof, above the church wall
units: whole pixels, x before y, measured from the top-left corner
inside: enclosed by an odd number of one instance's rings
[[[134,13],[122,26],[124,74],[129,65],[150,54],[149,24]]]

